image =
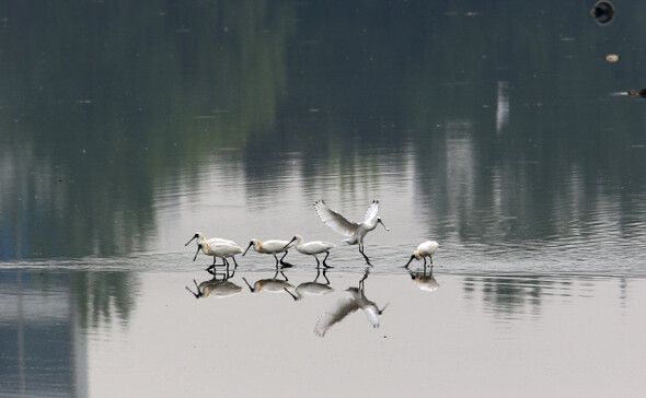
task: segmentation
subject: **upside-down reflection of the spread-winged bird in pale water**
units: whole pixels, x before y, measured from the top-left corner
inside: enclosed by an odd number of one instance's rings
[[[314,332],[316,336],[323,337],[327,332],[327,330],[335,324],[342,321],[346,316],[349,314],[362,309],[368,317],[368,321],[372,327],[379,327],[379,316],[383,314],[383,311],[388,306],[384,305],[383,308],[379,309],[374,302],[371,302],[366,297],[364,294],[364,281],[368,278],[368,269],[364,274],[364,278],[359,281],[359,288],[348,288],[346,292],[348,295],[338,300],[332,308],[330,308],[316,323],[314,327]]]

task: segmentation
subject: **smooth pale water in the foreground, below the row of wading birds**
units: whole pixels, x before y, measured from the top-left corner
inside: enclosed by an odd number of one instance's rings
[[[228,282],[238,293],[200,300],[185,290],[208,279],[195,271],[138,272],[103,297],[76,282],[112,272],[60,271],[50,284],[18,274],[2,293],[3,341],[18,347],[2,350],[3,395],[632,396],[645,387],[643,279],[434,271],[423,290],[407,273],[370,273],[365,296],[388,305],[379,328],[359,311],[319,337],[319,319],[361,272],[320,274],[334,291],[299,301],[251,293],[242,280],[274,272],[237,271]],[[298,286],[316,272],[284,277]]]

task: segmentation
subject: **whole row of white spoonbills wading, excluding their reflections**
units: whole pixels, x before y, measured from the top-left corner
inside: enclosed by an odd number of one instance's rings
[[[330,209],[323,200],[318,200],[314,203],[314,210],[316,211],[316,214],[319,214],[319,218],[321,219],[321,221],[323,221],[327,226],[330,226],[336,233],[339,233],[339,234],[346,236],[346,238],[343,241],[345,244],[359,245],[359,253],[364,256],[364,258],[366,259],[366,262],[369,266],[372,266],[370,264],[370,258],[365,253],[364,238],[366,237],[368,232],[370,232],[377,227],[377,224],[381,224],[387,231],[390,231],[385,226],[383,221],[381,221],[381,218],[377,216],[377,212],[379,210],[379,201],[378,200],[373,200],[372,203],[370,203],[370,206],[368,207],[368,210],[366,211],[364,222],[361,222],[361,223],[357,223],[355,221],[348,220],[347,218],[345,218],[343,214],[338,213],[337,211]],[[291,238],[291,241],[272,239],[272,241],[261,242],[256,238],[253,238],[249,243],[249,246],[246,247],[246,249],[243,251],[242,247],[238,246],[235,244],[235,242],[233,242],[233,241],[223,239],[220,237],[214,237],[214,238],[207,239],[199,232],[196,232],[195,235],[191,238],[191,241],[188,241],[185,244],[185,246],[188,246],[188,244],[191,242],[193,242],[194,239],[197,239],[197,251],[195,253],[195,257],[193,258],[194,261],[197,258],[197,255],[199,254],[200,250],[205,255],[214,257],[212,265],[207,269],[209,271],[212,270],[214,267],[216,267],[216,261],[217,261],[218,257],[222,259],[223,266],[228,267],[229,266],[228,259],[231,258],[233,260],[235,267],[238,267],[238,262],[235,261],[235,256],[241,253],[242,253],[242,256],[246,255],[249,249],[252,247],[257,253],[273,255],[274,258],[276,259],[276,267],[277,268],[291,267],[290,264],[285,261],[285,256],[287,256],[287,251],[291,247],[295,247],[299,253],[301,253],[303,255],[314,256],[314,258],[316,259],[316,267],[320,267],[320,265],[322,262],[325,268],[328,268],[325,260],[330,256],[330,250],[333,247],[335,247],[335,245],[330,242],[322,242],[322,241],[304,242],[302,236],[295,235]],[[404,267],[407,268],[408,265],[411,264],[411,261],[413,261],[413,259],[416,259],[416,260],[424,259],[424,266],[426,267],[426,258],[427,257],[430,260],[430,265],[432,266],[432,255],[438,249],[438,247],[439,247],[439,245],[435,241],[426,241],[426,242],[419,244],[419,246],[417,246],[417,249],[413,253],[413,255],[411,256],[411,259],[408,260],[408,262]],[[282,253],[282,257],[280,257],[280,259],[278,259],[278,257],[276,256],[279,253]],[[325,258],[323,258],[323,261],[320,261],[318,256],[322,255],[323,253],[325,253]]]

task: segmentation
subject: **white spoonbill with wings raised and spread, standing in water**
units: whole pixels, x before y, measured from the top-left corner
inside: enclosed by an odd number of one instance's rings
[[[364,253],[364,237],[368,232],[374,230],[377,224],[383,225],[385,231],[390,231],[381,218],[377,216],[377,211],[379,210],[379,201],[373,200],[366,212],[366,216],[364,218],[362,223],[356,223],[351,220],[346,219],[338,212],[330,209],[323,200],[318,200],[314,203],[314,209],[316,210],[316,214],[321,221],[323,221],[327,226],[330,226],[334,232],[339,233],[342,235],[347,236],[347,239],[344,239],[348,245],[359,245],[359,253],[364,256],[366,261],[369,266],[370,259]]]

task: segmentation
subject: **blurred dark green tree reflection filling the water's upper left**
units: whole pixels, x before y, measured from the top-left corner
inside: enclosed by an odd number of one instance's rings
[[[22,1],[0,15],[0,258],[142,249],[155,184],[272,130],[285,95],[289,2]]]

